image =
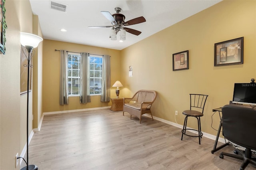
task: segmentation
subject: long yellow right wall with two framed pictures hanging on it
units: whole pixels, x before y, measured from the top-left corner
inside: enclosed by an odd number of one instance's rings
[[[244,64],[214,67],[214,43],[244,37]],[[202,131],[211,128],[212,109],[232,100],[234,83],[256,78],[256,1],[222,1],[153,36],[122,50],[121,93],[130,97],[139,89],[158,92],[153,115],[183,125],[182,111],[189,109],[189,93],[209,95]],[[172,71],[172,54],[189,51],[189,69]],[[128,66],[133,77],[128,77]],[[219,117],[213,117],[218,129]],[[193,123],[191,123],[193,122]],[[196,120],[188,123],[196,128]]]

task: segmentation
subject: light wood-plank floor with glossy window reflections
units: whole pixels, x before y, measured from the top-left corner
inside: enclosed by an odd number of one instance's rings
[[[238,170],[241,160],[211,154],[214,140],[184,136],[149,117],[109,109],[45,115],[29,146],[39,170]],[[22,166],[24,166],[24,162]],[[255,170],[251,164],[246,170]]]

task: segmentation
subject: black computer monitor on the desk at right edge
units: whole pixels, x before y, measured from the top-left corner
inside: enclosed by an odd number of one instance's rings
[[[235,83],[232,103],[256,105],[256,83]]]

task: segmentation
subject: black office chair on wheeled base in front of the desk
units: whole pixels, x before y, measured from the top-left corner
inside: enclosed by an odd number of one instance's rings
[[[256,108],[244,105],[225,105],[222,107],[222,134],[229,141],[245,148],[245,153],[235,149],[239,155],[220,152],[223,155],[243,160],[240,170],[251,163],[256,166],[252,150],[256,150]]]

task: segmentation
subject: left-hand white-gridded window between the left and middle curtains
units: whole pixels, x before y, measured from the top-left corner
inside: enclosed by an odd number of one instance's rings
[[[68,52],[68,95],[80,95],[80,54]]]

